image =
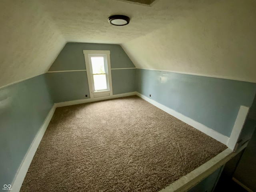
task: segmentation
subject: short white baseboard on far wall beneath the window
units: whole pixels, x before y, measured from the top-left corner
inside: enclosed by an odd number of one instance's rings
[[[120,97],[127,97],[127,96],[132,96],[132,95],[136,95],[136,92],[129,92],[129,93],[122,93],[122,94],[104,96],[104,97],[96,97],[96,98],[88,98],[88,99],[80,99],[80,100],[60,102],[60,103],[56,103],[56,107],[77,105],[77,104],[82,104],[82,103],[102,101],[102,100],[108,100],[108,99],[114,99],[114,98],[120,98]]]

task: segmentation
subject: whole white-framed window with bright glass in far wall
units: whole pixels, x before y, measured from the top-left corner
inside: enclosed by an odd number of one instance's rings
[[[110,51],[84,50],[90,98],[112,95]]]

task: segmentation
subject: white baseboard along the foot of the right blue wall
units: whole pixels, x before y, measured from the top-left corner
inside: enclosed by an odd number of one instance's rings
[[[192,120],[191,118],[188,118],[187,116],[184,116],[183,114],[176,112],[175,110],[172,110],[138,92],[136,92],[136,95],[139,96],[140,98],[146,100],[147,102],[151,103],[152,105],[160,108],[161,110],[165,111],[166,113],[178,118],[179,120],[182,120],[183,122],[185,122],[186,124],[189,124],[190,126],[200,130],[201,132],[207,134],[208,136],[216,139],[217,141],[223,143],[224,145],[228,144],[228,140],[229,138],[225,135],[220,134],[219,132],[216,132],[214,130],[212,130],[211,128],[206,127],[203,124],[200,124],[199,122]]]

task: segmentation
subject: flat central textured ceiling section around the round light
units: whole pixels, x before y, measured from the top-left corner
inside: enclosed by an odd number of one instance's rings
[[[120,0],[42,0],[54,23],[70,42],[121,44],[185,17],[212,0],[158,0],[152,7]],[[108,17],[124,14],[127,26],[112,26]]]

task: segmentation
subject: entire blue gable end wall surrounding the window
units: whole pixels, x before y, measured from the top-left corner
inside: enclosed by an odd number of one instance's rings
[[[110,50],[111,68],[135,68],[120,45],[67,43],[49,71],[85,70],[83,50]],[[113,94],[136,91],[136,69],[111,70]],[[55,103],[90,98],[86,71],[47,73]],[[85,97],[85,95],[88,97]]]

